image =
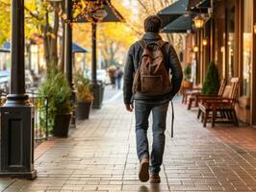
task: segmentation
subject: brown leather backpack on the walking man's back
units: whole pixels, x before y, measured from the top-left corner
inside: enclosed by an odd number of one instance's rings
[[[165,41],[146,43],[139,41],[143,53],[139,68],[135,73],[133,92],[140,92],[145,96],[164,95],[171,89],[169,74],[166,69],[165,57],[162,47]],[[166,49],[165,49],[166,50]]]

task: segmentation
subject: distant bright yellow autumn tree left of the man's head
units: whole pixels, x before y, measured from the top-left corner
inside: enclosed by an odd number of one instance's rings
[[[113,0],[115,9],[121,13],[125,21],[133,16],[131,9],[124,6],[124,0]],[[81,45],[91,47],[91,25],[73,25],[73,40]],[[122,64],[129,46],[137,39],[137,33],[126,22],[97,24],[97,51],[103,59],[103,67]],[[90,55],[88,56],[90,61]]]

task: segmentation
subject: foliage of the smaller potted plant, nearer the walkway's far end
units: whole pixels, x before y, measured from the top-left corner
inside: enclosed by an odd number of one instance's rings
[[[91,102],[93,95],[90,90],[90,80],[86,78],[82,73],[77,73],[74,77],[76,86],[76,96],[78,102]]]

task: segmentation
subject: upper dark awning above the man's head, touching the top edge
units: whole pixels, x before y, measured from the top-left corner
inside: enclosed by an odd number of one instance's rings
[[[187,12],[189,0],[178,0],[164,10],[158,12],[163,23],[162,27],[165,27],[168,23],[178,18],[180,15]]]

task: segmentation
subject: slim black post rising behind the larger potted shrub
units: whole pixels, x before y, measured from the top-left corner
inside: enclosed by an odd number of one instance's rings
[[[66,22],[64,24],[64,65],[65,65],[65,74],[68,84],[71,88],[71,102],[73,105],[76,103],[76,92],[73,84],[72,77],[72,1],[65,0],[65,13],[66,13]],[[71,119],[71,127],[75,128],[75,110],[73,110],[73,115]]]

